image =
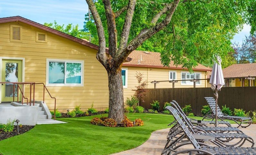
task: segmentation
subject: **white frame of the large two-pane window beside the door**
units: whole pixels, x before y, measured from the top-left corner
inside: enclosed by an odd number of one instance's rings
[[[49,84],[49,62],[64,62],[66,63],[81,63],[81,84],[67,84],[66,83],[66,75],[64,75],[64,84]],[[65,67],[66,72],[66,67]],[[83,87],[84,86],[84,61],[83,60],[68,60],[68,59],[46,59],[46,86],[56,86],[56,87]]]

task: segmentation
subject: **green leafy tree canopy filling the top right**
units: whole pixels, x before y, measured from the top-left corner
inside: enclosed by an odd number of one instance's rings
[[[128,42],[134,39],[143,29],[150,28],[155,23],[163,21],[167,14],[164,12],[170,0],[137,0],[131,23]],[[128,1],[113,0],[111,7],[118,12],[115,18],[117,43],[123,30]],[[109,34],[105,8],[102,0],[95,2],[101,18],[106,46],[109,45]],[[161,53],[163,65],[169,66],[170,60],[175,65],[183,65],[191,69],[197,62],[207,62],[215,53],[226,58],[233,52],[231,39],[242,28],[244,23],[252,26],[251,33],[256,31],[256,11],[254,0],[224,0],[199,1],[184,0],[178,4],[170,23],[154,36],[145,40],[138,50]],[[157,15],[157,16],[156,16]],[[98,45],[98,34],[93,17],[86,22],[84,28],[90,32],[92,43]],[[224,60],[229,62],[229,59]]]

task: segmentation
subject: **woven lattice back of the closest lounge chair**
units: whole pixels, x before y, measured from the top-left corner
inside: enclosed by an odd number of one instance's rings
[[[171,106],[167,106],[165,109],[169,110],[171,114],[173,115],[174,119],[177,121],[178,125],[181,127],[183,130],[184,134],[187,136],[188,140],[190,140],[191,144],[196,148],[196,149],[201,149],[200,145],[197,143],[197,140],[193,137],[183,120],[179,117],[177,110],[175,110]]]

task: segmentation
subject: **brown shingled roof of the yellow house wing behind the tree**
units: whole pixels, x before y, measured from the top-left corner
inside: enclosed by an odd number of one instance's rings
[[[145,52],[145,51],[135,50],[129,55],[129,57],[132,58],[132,60],[130,62],[124,62],[123,66],[187,69],[187,68],[182,68],[181,65],[178,65],[176,67],[173,61],[170,62],[170,67],[163,67],[160,61],[159,52]],[[141,58],[142,58],[142,61],[141,61]],[[140,60],[139,63],[138,63],[138,60]],[[209,69],[208,67],[205,67],[198,63],[198,65],[193,70],[211,71],[212,69]]]

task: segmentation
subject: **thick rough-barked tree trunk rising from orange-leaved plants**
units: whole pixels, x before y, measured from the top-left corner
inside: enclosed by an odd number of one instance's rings
[[[109,113],[108,118],[113,118],[118,124],[123,120],[123,82],[121,68],[108,71]]]

